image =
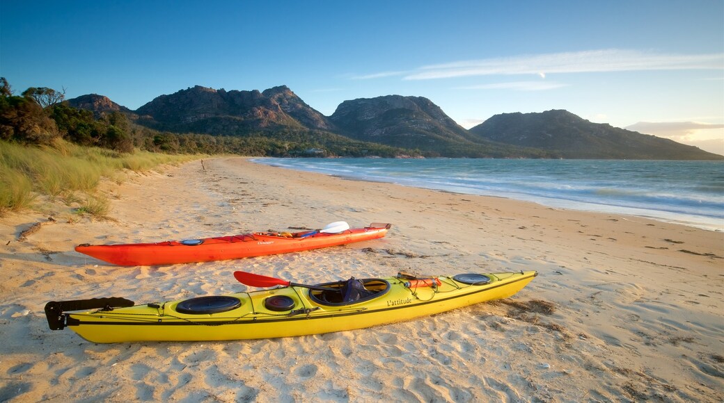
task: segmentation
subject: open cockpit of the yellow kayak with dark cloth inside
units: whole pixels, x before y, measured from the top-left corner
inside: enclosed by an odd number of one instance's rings
[[[382,279],[355,279],[321,284],[319,287],[334,290],[309,290],[311,300],[319,305],[346,306],[363,303],[381,297],[390,291],[390,283]]]

